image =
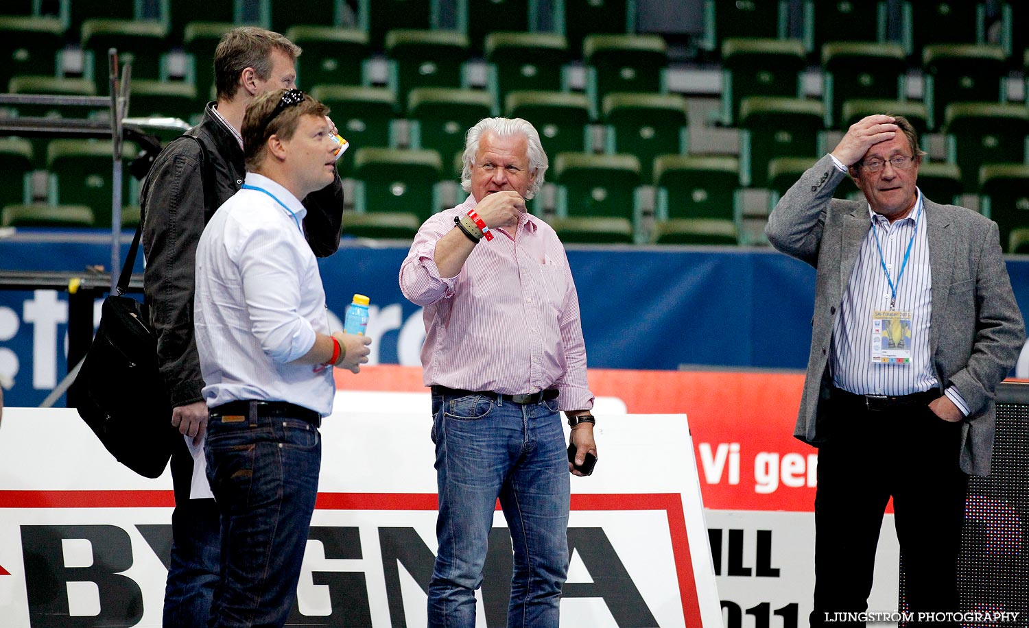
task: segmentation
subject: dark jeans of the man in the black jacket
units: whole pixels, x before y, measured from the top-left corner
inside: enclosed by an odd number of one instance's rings
[[[172,553],[165,585],[164,628],[206,626],[218,584],[220,524],[214,500],[190,500],[192,455],[181,436],[172,447]]]

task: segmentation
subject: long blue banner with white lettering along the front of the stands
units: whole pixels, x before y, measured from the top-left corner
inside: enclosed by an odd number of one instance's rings
[[[320,263],[333,315],[342,319],[354,293],[370,297],[372,363],[420,364],[421,308],[397,284],[405,255],[406,249],[350,246]],[[110,248],[8,241],[0,243],[0,259],[12,270],[81,270],[108,264]],[[575,248],[568,260],[593,368],[803,369],[807,363],[815,272],[802,262],[774,251],[704,249]],[[1029,311],[1029,261],[1010,259],[1007,268],[1019,305]],[[7,405],[38,405],[61,380],[67,328],[66,293],[0,291],[0,379],[13,382]]]

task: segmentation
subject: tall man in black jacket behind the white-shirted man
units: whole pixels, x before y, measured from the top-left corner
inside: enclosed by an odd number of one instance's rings
[[[172,556],[165,590],[165,628],[207,626],[218,582],[219,520],[204,474],[191,491],[194,458],[204,459],[207,406],[201,395],[193,340],[193,284],[197,244],[204,225],[243,185],[246,167],[240,127],[243,114],[259,95],[295,86],[300,48],[278,33],[241,27],[226,33],[214,56],[217,101],[209,103],[200,124],[169,144],[157,156],[140,194],[143,210],[144,291],[157,333],[157,359],[173,406],[172,424],[183,435],[172,453],[175,511]],[[334,125],[330,125],[335,133]],[[185,137],[189,136],[189,137]],[[304,232],[319,257],[340,245],[343,186],[339,175],[304,199]],[[202,471],[202,469],[201,469]],[[191,498],[192,497],[192,498]]]

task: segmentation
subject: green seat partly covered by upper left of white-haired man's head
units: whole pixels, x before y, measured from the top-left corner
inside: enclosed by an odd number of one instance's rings
[[[412,145],[441,155],[464,147],[464,135],[493,114],[493,99],[486,91],[420,87],[407,98],[407,118],[415,121]]]

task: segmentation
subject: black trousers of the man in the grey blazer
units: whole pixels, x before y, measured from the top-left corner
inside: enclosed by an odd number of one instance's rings
[[[923,404],[868,410],[836,403],[831,410],[829,436],[818,450],[811,626],[825,625],[826,614],[835,628],[863,625],[832,621],[833,614],[867,609],[890,496],[907,574],[909,605],[901,611],[916,619],[919,612],[958,611],[957,560],[968,488],[958,465],[961,423],[941,419]]]

